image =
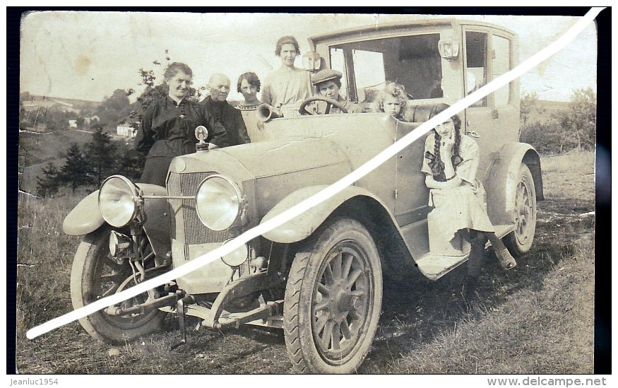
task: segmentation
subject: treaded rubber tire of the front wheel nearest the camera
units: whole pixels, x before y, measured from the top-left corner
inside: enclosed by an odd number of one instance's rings
[[[348,218],[337,218],[327,222],[314,236],[308,242],[307,249],[296,254],[285,288],[283,330],[287,353],[298,372],[328,374],[355,372],[369,353],[380,316],[382,272],[378,249],[367,229],[358,221]],[[328,263],[333,262],[333,258],[338,256],[333,253],[335,249],[348,249],[347,252],[352,249],[358,255],[357,259],[352,260],[355,264],[350,264],[354,265],[352,271],[362,269],[354,288],[359,290],[358,287],[365,287],[369,290],[365,298],[357,300],[362,304],[359,310],[364,312],[364,317],[359,319],[362,323],[355,325],[350,317],[350,324],[347,325],[355,332],[354,334],[362,334],[354,336],[350,350],[341,360],[328,359],[323,351],[319,351],[319,346],[316,346],[316,335],[319,336],[319,333],[314,333],[312,327],[314,322],[312,319],[316,317],[316,312],[313,310],[314,296],[319,298],[317,283],[322,278]],[[361,264],[361,267],[358,264]],[[348,271],[347,274],[352,272]],[[347,320],[350,313],[345,314]],[[328,317],[332,318],[330,312]],[[338,328],[337,331],[339,330]],[[345,340],[342,343],[345,345]]]

